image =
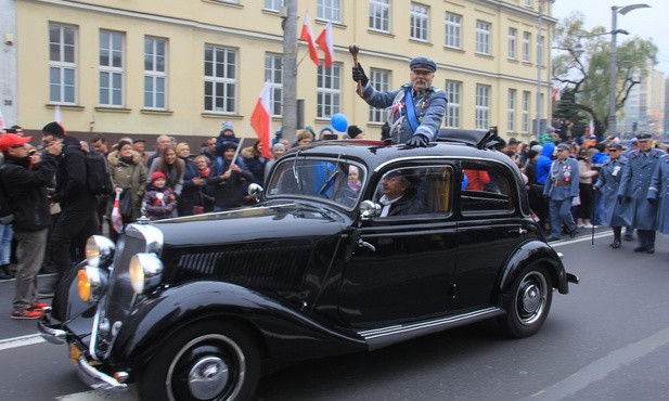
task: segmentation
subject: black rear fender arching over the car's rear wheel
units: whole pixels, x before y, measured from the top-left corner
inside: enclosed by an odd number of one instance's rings
[[[553,286],[559,294],[569,293],[569,284],[565,267],[555,249],[541,241],[529,241],[516,249],[509,258],[500,281],[500,294],[507,293],[523,269],[530,264],[541,264],[552,273]]]

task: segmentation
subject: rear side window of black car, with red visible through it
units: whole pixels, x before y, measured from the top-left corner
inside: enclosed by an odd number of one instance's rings
[[[463,164],[460,210],[464,216],[506,214],[513,210],[513,182],[501,167]]]

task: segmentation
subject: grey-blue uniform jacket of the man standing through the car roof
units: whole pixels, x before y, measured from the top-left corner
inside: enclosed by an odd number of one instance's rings
[[[407,106],[404,104],[404,90],[412,91],[413,105],[419,121],[415,132],[406,117]],[[404,83],[400,89],[394,91],[377,91],[368,83],[362,92],[362,99],[372,107],[389,108],[388,124],[390,125],[390,135],[393,142],[404,143],[414,135],[421,133],[430,141],[439,137],[439,127],[446,114],[446,92],[439,88],[430,87],[424,93],[416,93],[411,89],[411,83]]]

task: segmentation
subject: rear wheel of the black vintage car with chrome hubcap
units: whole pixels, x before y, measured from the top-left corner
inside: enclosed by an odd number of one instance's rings
[[[524,269],[505,294],[506,314],[499,319],[502,331],[517,338],[533,335],[548,318],[552,300],[553,284],[546,269],[539,266]]]

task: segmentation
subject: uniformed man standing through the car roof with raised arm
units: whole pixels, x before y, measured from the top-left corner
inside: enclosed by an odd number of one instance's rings
[[[417,56],[409,63],[411,82],[393,91],[377,91],[370,85],[360,63],[353,66],[352,77],[362,91],[362,99],[373,107],[390,108],[388,124],[394,143],[425,147],[439,137],[446,114],[446,92],[432,86],[437,63]],[[362,88],[360,88],[360,86]]]

